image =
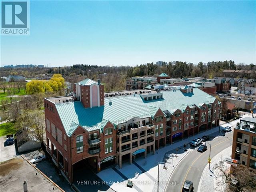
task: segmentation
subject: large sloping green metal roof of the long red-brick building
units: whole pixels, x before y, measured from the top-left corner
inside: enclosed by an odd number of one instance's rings
[[[84,108],[80,101],[55,104],[66,133],[70,136],[78,124],[88,131],[102,129],[108,121],[116,124],[132,117],[153,117],[158,108],[170,113],[186,106],[203,103],[209,104],[216,98],[200,89],[194,88],[191,93],[181,91],[164,91],[163,99],[143,100],[140,95],[105,98],[105,105],[95,108]],[[112,105],[109,102],[112,102]]]

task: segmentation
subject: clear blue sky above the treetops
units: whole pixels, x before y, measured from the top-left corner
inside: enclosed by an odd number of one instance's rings
[[[30,36],[1,36],[1,65],[256,63],[255,1],[30,1]]]

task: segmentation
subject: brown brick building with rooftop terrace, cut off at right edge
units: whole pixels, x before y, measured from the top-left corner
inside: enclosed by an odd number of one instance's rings
[[[245,117],[234,128],[232,159],[256,170],[256,118]]]

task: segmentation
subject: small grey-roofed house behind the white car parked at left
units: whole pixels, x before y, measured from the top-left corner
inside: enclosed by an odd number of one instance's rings
[[[18,152],[35,150],[41,147],[41,142],[29,133],[27,128],[16,133]]]

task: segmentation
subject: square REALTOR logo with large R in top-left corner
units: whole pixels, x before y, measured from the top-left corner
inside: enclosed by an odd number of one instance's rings
[[[1,35],[29,35],[29,1],[1,1]]]

